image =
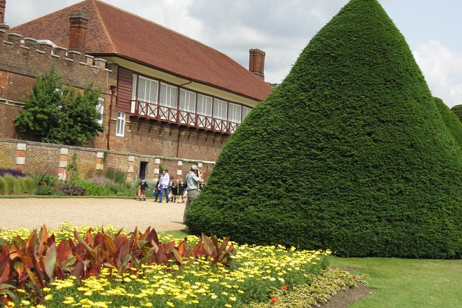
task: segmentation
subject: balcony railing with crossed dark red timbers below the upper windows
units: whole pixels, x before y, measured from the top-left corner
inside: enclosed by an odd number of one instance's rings
[[[238,123],[224,119],[215,119],[214,117],[198,115],[197,113],[179,110],[178,108],[159,106],[140,101],[131,101],[131,115],[224,134],[234,133],[235,129],[239,126]]]

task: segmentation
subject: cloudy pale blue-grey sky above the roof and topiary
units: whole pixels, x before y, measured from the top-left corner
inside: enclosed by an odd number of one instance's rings
[[[6,0],[11,27],[79,0]],[[462,1],[379,0],[407,39],[432,94],[462,104]],[[197,39],[249,66],[267,55],[264,75],[280,83],[300,52],[348,0],[104,0]]]

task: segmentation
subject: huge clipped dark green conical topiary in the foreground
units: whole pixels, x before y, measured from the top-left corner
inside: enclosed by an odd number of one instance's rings
[[[405,39],[378,1],[352,0],[229,138],[186,224],[339,256],[458,258],[461,188]]]

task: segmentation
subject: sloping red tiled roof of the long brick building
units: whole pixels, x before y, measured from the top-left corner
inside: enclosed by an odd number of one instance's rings
[[[222,52],[98,0],[81,1],[10,31],[66,47],[74,10],[88,16],[86,52],[90,55],[118,55],[257,100],[271,93],[271,86]]]

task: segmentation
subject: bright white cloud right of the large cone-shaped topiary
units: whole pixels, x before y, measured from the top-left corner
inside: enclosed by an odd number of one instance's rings
[[[462,55],[439,41],[426,41],[413,53],[433,96],[450,107],[462,104]]]

